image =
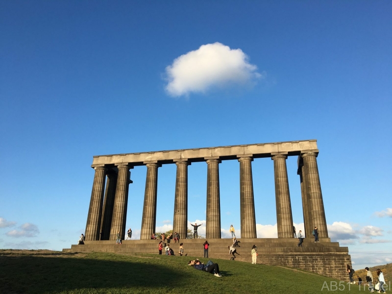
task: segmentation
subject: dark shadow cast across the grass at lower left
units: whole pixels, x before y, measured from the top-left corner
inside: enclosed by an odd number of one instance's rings
[[[121,257],[119,257],[120,259]],[[141,288],[153,291],[170,281],[185,285],[186,273],[138,261],[0,256],[1,293],[55,293],[83,288]]]

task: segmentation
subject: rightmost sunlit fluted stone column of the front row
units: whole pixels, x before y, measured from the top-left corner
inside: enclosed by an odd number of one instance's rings
[[[315,226],[319,229],[320,238],[328,238],[327,222],[325,220],[324,203],[322,201],[319,169],[317,167],[317,153],[309,152],[301,155],[303,158],[304,178],[306,193],[309,202],[309,217],[312,230]],[[308,238],[312,235],[308,236]]]

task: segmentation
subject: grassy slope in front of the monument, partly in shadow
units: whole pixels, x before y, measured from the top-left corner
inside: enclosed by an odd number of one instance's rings
[[[317,293],[324,281],[303,271],[213,260],[222,277],[189,267],[191,257],[0,250],[1,293]],[[207,259],[204,260],[206,262]],[[364,293],[344,283],[339,293]],[[323,291],[327,291],[326,288]]]

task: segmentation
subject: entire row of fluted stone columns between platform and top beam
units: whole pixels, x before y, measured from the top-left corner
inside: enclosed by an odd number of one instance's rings
[[[298,174],[305,234],[310,237],[314,226],[320,237],[328,237],[324,206],[316,161],[317,153],[305,153],[299,157]],[[291,209],[289,181],[287,176],[287,154],[272,154],[275,177],[276,219],[278,238],[293,237],[293,215]],[[221,238],[221,202],[218,157],[205,158],[207,163],[207,209],[206,238]],[[243,156],[240,162],[240,211],[241,237],[256,238],[256,218],[253,195],[253,158]],[[175,161],[177,166],[173,214],[173,231],[186,238],[188,230],[188,162]],[[155,232],[158,163],[147,163],[146,190],[143,205],[142,240],[150,239]],[[127,165],[119,165],[118,173],[104,167],[95,168],[93,190],[86,224],[86,240],[115,240],[120,232],[125,237],[128,186],[131,182]],[[107,176],[106,189],[105,176]],[[105,193],[105,196],[104,196]],[[103,202],[104,199],[104,202]]]

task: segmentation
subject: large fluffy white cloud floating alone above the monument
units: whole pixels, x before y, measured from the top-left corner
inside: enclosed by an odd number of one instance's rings
[[[221,43],[206,44],[174,59],[166,67],[167,92],[172,96],[205,93],[212,87],[247,84],[263,75],[249,63],[241,49],[230,49]],[[263,73],[265,75],[265,73]]]

